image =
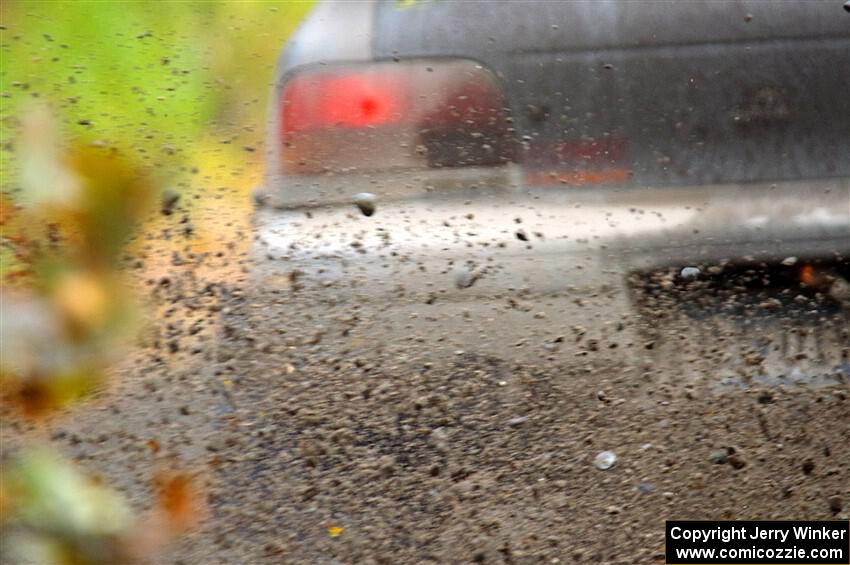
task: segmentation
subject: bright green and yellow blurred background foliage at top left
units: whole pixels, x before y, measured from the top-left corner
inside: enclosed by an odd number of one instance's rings
[[[277,54],[312,3],[0,3],[4,239],[14,237],[20,121],[33,101],[65,138],[122,147],[157,184],[183,186],[210,140],[260,151]],[[16,264],[4,243],[0,276]]]

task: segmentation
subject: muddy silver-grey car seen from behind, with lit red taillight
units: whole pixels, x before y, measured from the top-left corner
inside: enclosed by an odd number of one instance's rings
[[[838,312],[818,367],[846,373],[848,92],[837,0],[321,2],[277,65],[257,284],[535,357],[623,326],[657,351],[641,308],[743,277],[773,290],[741,323]],[[783,344],[762,373],[807,372]]]

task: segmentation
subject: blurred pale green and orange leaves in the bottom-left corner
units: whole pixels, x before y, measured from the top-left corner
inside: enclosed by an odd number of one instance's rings
[[[196,478],[162,473],[157,500],[135,516],[117,491],[44,449],[0,476],[0,558],[39,565],[127,565],[153,557],[204,515]]]

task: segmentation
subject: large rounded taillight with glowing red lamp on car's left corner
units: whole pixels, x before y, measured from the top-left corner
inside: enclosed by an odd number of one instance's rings
[[[470,61],[314,68],[280,97],[282,172],[486,166],[514,158],[499,83]]]

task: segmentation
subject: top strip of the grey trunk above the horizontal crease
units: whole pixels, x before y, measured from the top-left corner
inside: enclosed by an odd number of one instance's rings
[[[375,56],[595,51],[846,37],[841,2],[584,0],[417,2],[376,7]]]

